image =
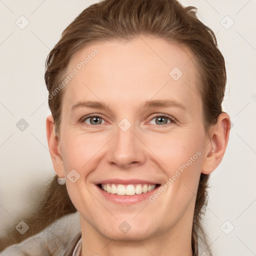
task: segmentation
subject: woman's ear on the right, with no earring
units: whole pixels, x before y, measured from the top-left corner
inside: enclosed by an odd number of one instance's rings
[[[222,112],[216,124],[211,127],[210,140],[207,143],[201,173],[211,173],[221,162],[226,150],[230,131],[230,117]]]

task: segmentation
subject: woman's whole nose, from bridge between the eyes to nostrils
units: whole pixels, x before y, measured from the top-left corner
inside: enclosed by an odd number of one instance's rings
[[[143,143],[137,138],[136,126],[127,118],[123,118],[116,127],[109,150],[109,161],[120,167],[125,167],[131,162],[141,164],[145,160]]]

